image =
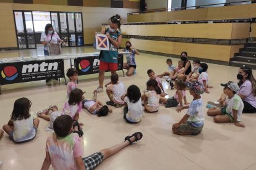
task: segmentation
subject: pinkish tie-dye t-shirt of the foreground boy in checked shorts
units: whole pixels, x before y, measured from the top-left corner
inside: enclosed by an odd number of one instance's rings
[[[57,137],[53,132],[46,141],[45,151],[51,157],[54,169],[77,169],[75,158],[83,156],[83,147],[78,134],[71,133],[66,137]]]

